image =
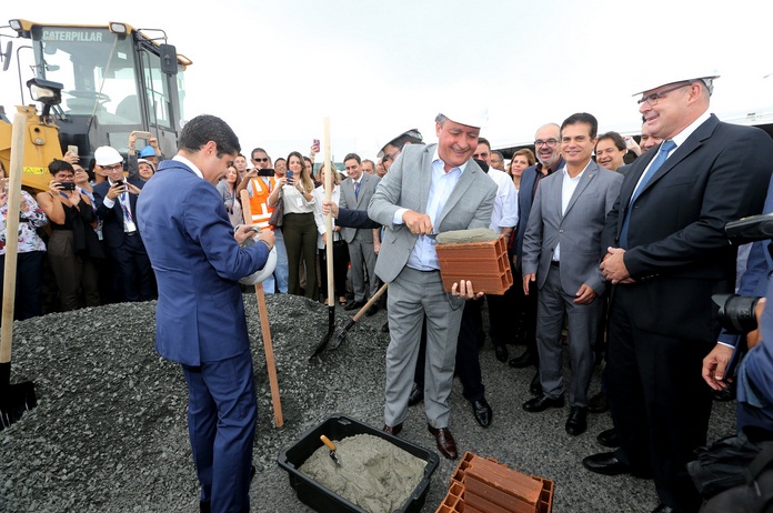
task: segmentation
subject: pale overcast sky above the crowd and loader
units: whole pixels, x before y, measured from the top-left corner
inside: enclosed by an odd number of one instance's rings
[[[2,16],[164,29],[193,61],[188,119],[219,115],[247,151],[277,158],[308,153],[330,115],[340,160],[374,158],[411,128],[434,142],[434,115],[460,101],[488,105],[482,134],[494,147],[578,111],[602,131],[636,133],[632,93],[662,70],[722,74],[712,110],[725,119],[773,113],[773,77],[763,79],[773,73],[771,14],[769,0],[38,0]],[[13,62],[0,76],[7,112],[18,91]]]

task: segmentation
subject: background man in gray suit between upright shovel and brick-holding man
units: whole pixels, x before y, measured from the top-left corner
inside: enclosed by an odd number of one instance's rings
[[[362,161],[357,153],[349,153],[343,158],[343,165],[349,178],[341,183],[340,208],[350,210],[365,210],[373,198],[379,177],[362,172]],[[378,229],[375,229],[378,230]],[[347,303],[345,310],[354,310],[365,304],[365,298],[370,298],[379,290],[375,279],[375,252],[373,251],[373,229],[343,228],[343,239],[349,244],[349,260],[352,263],[352,289],[354,299]],[[364,265],[363,265],[364,263]],[[365,271],[370,293],[365,289]],[[368,311],[369,315],[377,312],[375,304]]]

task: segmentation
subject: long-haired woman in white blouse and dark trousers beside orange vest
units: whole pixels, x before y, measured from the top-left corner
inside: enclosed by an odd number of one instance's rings
[[[303,155],[293,151],[288,155],[288,171],[277,179],[269,195],[269,205],[279,203],[279,191],[284,202],[282,234],[288,250],[288,292],[318,300],[317,283],[317,223],[314,222],[314,182],[303,165]],[[301,289],[301,261],[305,263],[305,291]]]

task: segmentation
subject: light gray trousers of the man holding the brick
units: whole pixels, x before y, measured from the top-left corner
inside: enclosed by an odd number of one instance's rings
[[[449,425],[449,395],[453,385],[456,339],[464,300],[443,290],[440,272],[405,266],[389,284],[389,330],[384,423],[405,420],[408,396],[419,356],[421,325],[426,314],[424,410],[433,428]]]

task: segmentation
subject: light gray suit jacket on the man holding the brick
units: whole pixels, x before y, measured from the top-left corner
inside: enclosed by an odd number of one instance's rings
[[[438,144],[406,145],[381,180],[368,207],[368,215],[389,228],[381,242],[375,274],[385,283],[394,280],[408,263],[418,235],[405,224],[393,224],[401,209],[426,212],[432,180],[432,158]],[[451,197],[445,202],[435,231],[486,228],[494,209],[496,184],[470,159]],[[474,286],[474,283],[473,283]]]

